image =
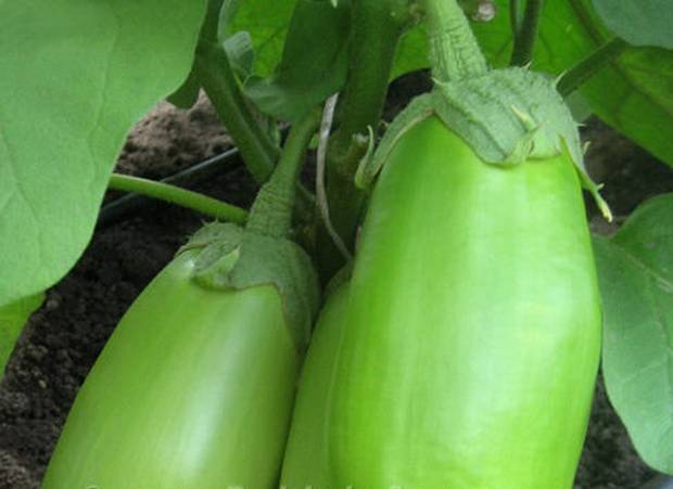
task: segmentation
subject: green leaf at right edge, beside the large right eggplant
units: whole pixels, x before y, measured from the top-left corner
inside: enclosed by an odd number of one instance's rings
[[[673,194],[594,239],[608,395],[649,465],[673,474]]]

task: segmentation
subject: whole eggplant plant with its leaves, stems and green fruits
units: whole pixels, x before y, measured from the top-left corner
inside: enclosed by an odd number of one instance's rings
[[[214,220],[118,324],[43,487],[567,489],[599,365],[673,474],[673,194],[592,236],[579,134],[595,114],[673,166],[671,25],[666,0],[0,2],[0,366],[106,189]],[[251,209],[113,172],[200,91]]]

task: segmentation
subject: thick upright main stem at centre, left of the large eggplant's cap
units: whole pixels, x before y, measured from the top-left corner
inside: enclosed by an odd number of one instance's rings
[[[363,205],[364,193],[353,178],[359,158],[354,158],[359,143],[356,134],[378,127],[385,103],[388,83],[399,39],[412,14],[408,0],[354,0],[352,2],[352,39],[348,73],[339,96],[335,124],[327,159],[327,200],[334,231],[350,246]],[[329,278],[343,263],[325,227],[317,235],[319,268]]]

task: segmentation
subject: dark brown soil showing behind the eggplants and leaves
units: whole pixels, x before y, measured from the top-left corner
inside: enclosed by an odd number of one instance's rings
[[[401,100],[422,91],[426,82],[396,83],[389,110],[396,112]],[[673,170],[598,121],[592,121],[585,137],[595,141],[589,165],[605,181],[604,195],[618,217],[655,193],[673,191]],[[163,178],[229,144],[205,100],[190,111],[162,103],[130,134],[118,170]],[[216,178],[195,190],[247,206],[255,185],[236,162],[223,165]],[[592,222],[594,229],[612,230],[600,223],[595,210]],[[98,229],[74,269],[48,292],[0,382],[0,488],[39,486],[75,395],[115,324],[201,223],[202,218],[191,211],[149,204]],[[635,453],[599,382],[575,488],[636,488],[652,475]]]

